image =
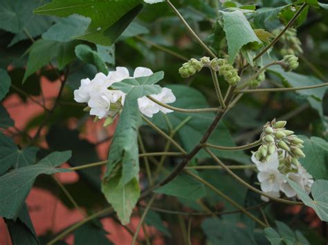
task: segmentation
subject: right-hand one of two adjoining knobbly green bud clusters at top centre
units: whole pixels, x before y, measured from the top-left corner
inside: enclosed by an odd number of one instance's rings
[[[219,71],[219,75],[224,77],[231,86],[236,86],[240,81],[238,70],[231,66],[226,59],[212,59],[210,67]]]

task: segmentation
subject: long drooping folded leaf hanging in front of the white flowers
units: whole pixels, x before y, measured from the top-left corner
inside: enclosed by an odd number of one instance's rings
[[[149,77],[125,79],[112,86],[127,95],[109,150],[102,193],[116,210],[122,224],[129,223],[132,210],[140,196],[138,128],[142,119],[137,99],[160,92],[161,87],[154,84],[161,79],[163,72],[156,72]]]

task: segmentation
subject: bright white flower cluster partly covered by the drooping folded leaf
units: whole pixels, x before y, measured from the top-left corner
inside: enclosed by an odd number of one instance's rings
[[[134,70],[133,77],[147,77],[152,75],[152,70],[138,67]],[[105,117],[115,117],[124,105],[125,93],[120,90],[111,89],[111,85],[123,79],[133,78],[129,75],[129,70],[125,67],[117,67],[115,71],[104,75],[99,72],[95,78],[81,80],[81,86],[74,90],[74,99],[79,103],[87,103],[90,108],[90,115],[95,115],[99,119]],[[176,100],[170,88],[162,88],[157,95],[151,95],[154,99],[164,104],[172,103]],[[152,117],[157,112],[172,112],[163,106],[159,106],[147,97],[138,98],[139,110],[143,115]]]

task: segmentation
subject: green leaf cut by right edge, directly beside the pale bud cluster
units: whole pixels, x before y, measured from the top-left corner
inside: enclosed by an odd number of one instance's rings
[[[302,166],[315,179],[328,179],[328,142],[319,137],[308,138],[300,135],[304,140],[302,149],[306,157],[300,159]]]

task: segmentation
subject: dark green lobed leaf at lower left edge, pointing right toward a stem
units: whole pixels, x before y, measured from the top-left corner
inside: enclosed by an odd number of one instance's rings
[[[17,168],[0,177],[0,216],[7,219],[19,215],[24,200],[38,175],[69,172],[65,168],[56,168],[71,157],[71,152],[55,152],[44,157],[39,163]]]

